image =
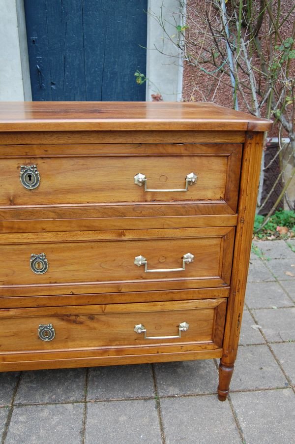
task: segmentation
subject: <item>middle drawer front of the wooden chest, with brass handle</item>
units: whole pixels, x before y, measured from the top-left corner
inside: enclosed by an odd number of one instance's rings
[[[44,286],[45,294],[67,287],[73,294],[229,285],[234,233],[214,227],[2,235],[2,242],[14,241],[0,245],[2,294],[9,286],[29,295]]]

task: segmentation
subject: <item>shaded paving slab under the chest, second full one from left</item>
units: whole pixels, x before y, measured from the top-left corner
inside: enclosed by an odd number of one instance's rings
[[[150,364],[89,369],[88,400],[153,396],[154,382]]]

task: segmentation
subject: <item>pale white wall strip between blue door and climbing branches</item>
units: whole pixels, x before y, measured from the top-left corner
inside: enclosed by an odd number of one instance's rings
[[[181,99],[182,64],[177,47],[165,34],[177,41],[176,26],[183,23],[179,0],[148,0],[147,101],[159,93],[164,101]],[[165,31],[160,26],[163,22]]]

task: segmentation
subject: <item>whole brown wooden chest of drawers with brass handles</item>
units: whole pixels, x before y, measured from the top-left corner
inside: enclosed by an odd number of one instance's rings
[[[0,370],[236,359],[264,131],[208,103],[0,104]]]

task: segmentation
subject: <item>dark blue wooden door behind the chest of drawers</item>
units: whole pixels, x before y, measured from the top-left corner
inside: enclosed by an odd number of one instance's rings
[[[148,0],[25,0],[33,100],[145,100]]]

